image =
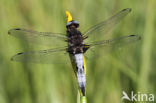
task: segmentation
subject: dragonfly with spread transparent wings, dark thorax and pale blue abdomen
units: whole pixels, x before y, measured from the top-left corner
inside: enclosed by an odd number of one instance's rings
[[[11,60],[17,62],[30,63],[54,63],[60,60],[67,62],[67,58],[71,60],[75,67],[75,74],[81,93],[86,95],[86,61],[85,54],[91,48],[100,46],[112,46],[118,44],[133,43],[141,39],[139,35],[127,35],[114,39],[105,40],[100,37],[107,34],[116,24],[118,24],[127,14],[131,12],[131,8],[123,9],[105,21],[93,25],[85,32],[79,31],[79,22],[72,19],[71,14],[66,11],[67,24],[66,34],[52,32],[38,32],[24,28],[14,28],[8,31],[9,35],[15,36],[27,42],[45,43],[45,45],[59,45],[57,48],[39,51],[21,52],[14,55]],[[99,34],[100,31],[100,34]],[[99,41],[94,41],[100,38]],[[40,42],[42,41],[42,42]],[[68,57],[65,57],[65,56]]]

